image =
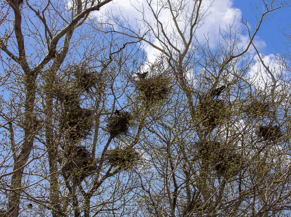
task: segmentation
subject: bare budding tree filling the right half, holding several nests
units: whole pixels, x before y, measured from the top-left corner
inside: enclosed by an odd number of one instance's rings
[[[138,27],[108,17],[112,32],[160,52],[174,83],[145,122],[141,216],[290,216],[290,71],[282,61],[269,67],[254,44],[265,19],[289,4],[262,1],[255,28],[242,19],[248,40],[230,23],[215,48],[196,35],[210,13],[201,0],[146,1]]]

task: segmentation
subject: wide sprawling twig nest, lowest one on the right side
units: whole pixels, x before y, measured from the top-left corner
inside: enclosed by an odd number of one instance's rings
[[[211,165],[219,175],[235,175],[242,168],[242,158],[219,142],[202,141],[198,148],[202,164]]]

